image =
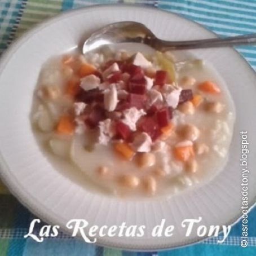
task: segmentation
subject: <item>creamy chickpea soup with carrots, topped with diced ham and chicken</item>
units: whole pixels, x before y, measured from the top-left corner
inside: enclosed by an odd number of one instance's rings
[[[31,118],[49,161],[126,197],[172,195],[216,175],[232,99],[208,64],[177,58],[104,50],[48,60]]]

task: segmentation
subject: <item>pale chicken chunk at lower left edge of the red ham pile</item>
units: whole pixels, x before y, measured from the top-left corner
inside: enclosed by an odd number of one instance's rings
[[[107,145],[109,140],[115,135],[113,123],[110,119],[99,122],[99,137],[98,143]]]

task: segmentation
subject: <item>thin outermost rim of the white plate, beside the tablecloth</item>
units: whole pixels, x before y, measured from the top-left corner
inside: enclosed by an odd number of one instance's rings
[[[156,7],[151,7],[151,6],[145,6],[145,5],[134,5],[131,3],[118,3],[118,4],[99,4],[99,5],[92,5],[92,6],[86,6],[86,7],[82,7],[82,8],[77,8],[77,9],[72,9],[72,10],[68,10],[68,11],[64,11],[64,12],[60,12],[59,14],[56,14],[53,17],[50,17],[44,21],[41,21],[39,24],[34,25],[31,29],[29,29],[27,32],[25,32],[23,35],[21,35],[19,38],[16,38],[14,41],[12,41],[12,43],[8,46],[8,48],[3,52],[1,58],[0,58],[0,76],[1,73],[3,72],[3,70],[5,69],[5,64],[8,63],[8,60],[10,60],[10,58],[12,57],[12,54],[15,54],[15,52],[17,50],[19,50],[20,46],[22,46],[26,41],[28,41],[30,39],[31,36],[33,36],[34,33],[40,32],[40,30],[42,30],[43,28],[47,27],[48,25],[51,25],[52,23],[55,23],[58,20],[61,20],[63,17],[68,17],[70,15],[73,15],[74,13],[79,13],[79,12],[83,12],[89,9],[96,9],[96,8],[111,8],[111,7],[131,7],[131,8],[137,8],[137,9],[142,9],[144,10],[145,8],[152,10],[152,11],[156,11],[156,12],[163,12],[165,14],[171,14],[174,16],[178,16],[181,19],[187,20],[193,24],[196,24],[198,27],[206,30],[207,32],[211,33],[211,35],[213,37],[218,37],[217,33],[214,33],[213,31],[211,31],[210,29],[204,27],[203,25],[197,23],[194,20],[190,20],[187,19],[186,17],[184,17],[183,15],[180,14],[176,14],[175,12],[172,11],[167,11],[167,10],[162,10],[160,8],[156,8]],[[239,58],[244,62],[244,65],[246,65],[250,70],[250,72],[254,73],[254,77],[256,78],[256,72],[255,70],[251,67],[251,65],[248,63],[248,61],[233,47],[230,47],[233,51],[234,54],[239,55]],[[23,198],[22,196],[19,195],[19,189],[17,190],[15,187],[15,183],[16,183],[16,178],[14,176],[11,175],[11,170],[8,167],[8,164],[6,163],[6,161],[4,160],[2,153],[1,153],[1,148],[0,148],[0,178],[3,181],[3,183],[6,185],[6,187],[8,188],[8,190],[11,192],[11,194],[13,196],[15,196],[17,198],[17,200],[23,204],[26,208],[28,208],[29,211],[31,211],[33,214],[35,214],[37,217],[39,217],[41,220],[46,220],[46,222],[48,224],[58,224],[58,216],[56,214],[53,215],[53,213],[48,214],[48,213],[42,213],[40,210],[38,210],[37,205],[38,203],[36,202],[32,202],[29,201],[27,202],[24,201],[25,198]],[[25,193],[27,193],[27,191],[25,191]],[[33,198],[31,195],[29,195],[30,198]],[[251,211],[251,209],[253,209],[256,206],[256,196],[254,198],[251,199],[250,204],[248,203],[248,213]],[[42,217],[42,218],[41,218]],[[242,218],[242,215],[239,214],[237,215],[235,218],[233,218],[232,220],[230,220],[230,223],[226,224],[227,225],[231,225],[233,226],[234,224],[236,224],[237,222],[240,221],[240,219]],[[55,220],[57,220],[55,222]],[[55,222],[55,223],[53,223]],[[64,232],[64,233],[68,233],[68,235],[70,235],[70,231],[67,228],[60,228],[60,231]],[[220,232],[222,233],[222,231]],[[81,238],[80,236],[77,236],[77,238]],[[139,249],[139,248],[134,248],[133,246],[129,246],[129,247],[125,247],[122,245],[114,245],[111,246],[109,245],[109,242],[104,242],[104,239],[101,239],[101,237],[98,237],[98,240],[96,243],[94,243],[94,245],[98,245],[98,246],[104,246],[106,248],[115,248],[115,249],[121,249],[121,250],[128,250],[128,251],[162,251],[162,250],[170,250],[170,249],[178,249],[178,248],[184,248],[186,246],[191,246],[194,244],[198,244],[199,242],[202,242],[206,239],[209,239],[210,237],[205,236],[205,237],[198,237],[197,239],[195,239],[194,241],[191,242],[187,242],[186,244],[181,244],[178,246],[152,246],[149,245],[147,249]],[[127,245],[126,245],[127,246]],[[152,247],[151,247],[152,246]]]

